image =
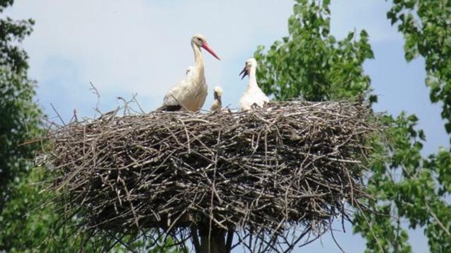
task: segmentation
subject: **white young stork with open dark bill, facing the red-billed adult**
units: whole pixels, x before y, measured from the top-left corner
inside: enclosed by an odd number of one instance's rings
[[[241,79],[249,75],[248,88],[244,91],[244,94],[239,100],[241,111],[250,110],[253,106],[262,107],[270,99],[261,91],[258,87],[257,77],[257,61],[254,58],[250,58],[246,61],[246,65],[241,71],[240,75],[243,75]]]

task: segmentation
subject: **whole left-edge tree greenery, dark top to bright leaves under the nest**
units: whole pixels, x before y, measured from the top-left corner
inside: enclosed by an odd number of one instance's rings
[[[13,2],[0,0],[0,13]],[[31,162],[42,148],[36,140],[44,132],[43,114],[33,101],[35,82],[27,76],[27,53],[19,48],[33,24],[32,19],[0,19],[0,251],[93,251],[115,245],[116,252],[176,252],[175,247],[160,246],[162,242],[149,247],[151,242],[142,238],[125,248],[111,237],[77,234],[76,217],[63,222],[58,208],[45,204],[53,196],[44,191],[43,170]]]

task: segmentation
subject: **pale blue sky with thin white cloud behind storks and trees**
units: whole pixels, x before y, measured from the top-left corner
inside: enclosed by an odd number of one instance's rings
[[[120,105],[117,97],[133,94],[145,111],[161,105],[166,91],[193,64],[190,39],[196,33],[204,34],[221,57],[218,61],[204,53],[209,94],[221,86],[223,103],[236,108],[247,85],[238,77],[245,60],[257,45],[268,47],[288,34],[293,5],[292,0],[16,0],[4,14],[35,19],[34,32],[23,47],[30,56],[30,77],[38,84],[37,100],[50,117],[55,116],[52,104],[67,121],[74,109],[79,116],[94,116],[97,98],[90,82],[99,90],[102,111]],[[389,1],[382,0],[332,1],[331,32],[339,39],[348,31],[365,29],[375,53],[375,59],[364,64],[379,96],[375,109],[416,113],[427,137],[424,155],[440,146],[449,148],[440,105],[429,102],[424,60],[404,60],[403,37],[386,19],[389,7]],[[210,107],[212,97],[204,108]],[[349,224],[346,233],[334,235],[346,252],[363,252],[365,242],[352,235]],[[409,236],[414,252],[428,252],[421,230],[410,230]],[[325,235],[295,250],[301,251],[339,249]]]

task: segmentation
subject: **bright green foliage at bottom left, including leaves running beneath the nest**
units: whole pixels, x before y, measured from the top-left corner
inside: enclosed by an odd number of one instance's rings
[[[28,176],[16,179],[12,185],[11,199],[0,213],[0,249],[7,249],[8,252],[78,252],[82,248],[86,252],[96,252],[115,244],[111,251],[178,252],[175,247],[161,246],[164,245],[162,241],[149,247],[144,240],[139,239],[126,248],[112,237],[79,234],[76,229],[80,222],[78,218],[64,221],[62,210],[45,204],[53,196],[39,183],[43,177],[43,172],[34,168]],[[122,238],[122,241],[131,238]],[[166,244],[172,244],[171,238]]]

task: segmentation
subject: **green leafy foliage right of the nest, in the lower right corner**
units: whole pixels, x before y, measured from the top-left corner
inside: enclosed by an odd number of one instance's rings
[[[378,252],[380,246],[385,252],[409,252],[405,232],[399,227],[400,219],[406,219],[411,228],[425,226],[432,252],[447,252],[451,248],[451,209],[443,188],[449,179],[441,177],[438,170],[449,168],[449,152],[442,150],[440,159],[421,156],[425,138],[422,130],[416,130],[415,116],[401,113],[397,118],[385,116],[383,121],[387,140],[373,142],[373,174],[368,180],[368,191],[377,198],[367,200],[371,212],[357,214],[354,232],[367,239],[368,252]],[[449,170],[444,175],[449,175]],[[377,229],[380,224],[385,232]],[[376,227],[374,234],[369,233],[370,225]]]

